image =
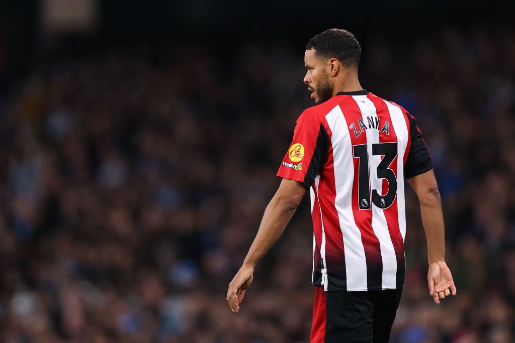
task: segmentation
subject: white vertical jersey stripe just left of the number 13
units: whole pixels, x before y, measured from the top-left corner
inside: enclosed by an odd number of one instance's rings
[[[334,207],[337,210],[338,222],[340,224],[341,242],[345,242],[345,271],[350,276],[347,278],[346,289],[347,291],[366,291],[368,289],[367,258],[362,231],[354,221],[354,206],[352,204],[354,169],[344,168],[344,166],[354,165],[352,142],[349,139],[348,133],[350,123],[346,121],[339,105],[334,107],[325,116],[325,119],[331,131],[330,142],[333,165],[339,166],[339,168],[332,168],[336,193]]]

